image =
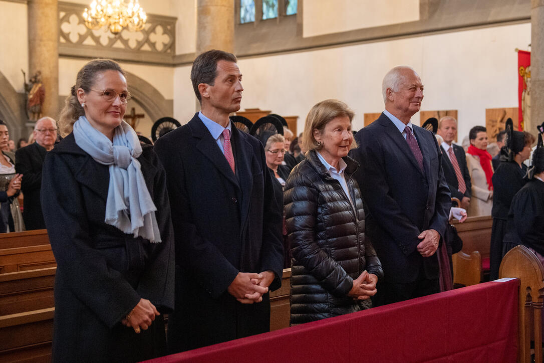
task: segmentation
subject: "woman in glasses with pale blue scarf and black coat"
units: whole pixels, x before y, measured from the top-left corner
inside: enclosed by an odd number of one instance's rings
[[[53,361],[141,361],[166,354],[174,244],[165,173],[123,121],[125,74],[81,70],[48,153],[41,200],[57,260]]]

